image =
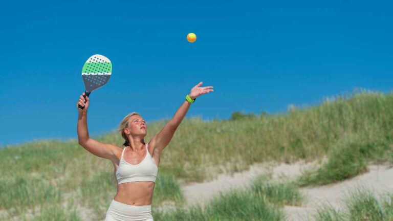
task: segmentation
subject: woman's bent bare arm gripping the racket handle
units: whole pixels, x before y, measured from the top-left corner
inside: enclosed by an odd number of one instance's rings
[[[112,162],[117,163],[118,158],[117,154],[121,149],[118,146],[112,144],[105,144],[98,142],[94,139],[89,138],[89,131],[88,131],[88,123],[87,123],[87,116],[88,116],[88,108],[89,108],[89,97],[86,99],[83,98],[84,93],[79,97],[79,100],[76,104],[77,108],[78,105],[84,106],[81,110],[78,108],[78,143],[83,148],[88,150],[89,152],[93,153],[97,157],[105,158],[111,160]]]

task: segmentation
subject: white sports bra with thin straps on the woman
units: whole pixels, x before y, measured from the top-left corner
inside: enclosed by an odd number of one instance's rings
[[[151,155],[147,149],[148,143],[146,143],[146,156],[137,165],[130,164],[123,159],[123,152],[121,153],[119,167],[116,170],[117,184],[137,181],[151,181],[156,182],[158,167],[154,163]]]

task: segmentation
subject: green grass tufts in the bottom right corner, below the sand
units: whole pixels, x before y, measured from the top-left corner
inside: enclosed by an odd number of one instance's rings
[[[345,208],[340,211],[329,205],[322,206],[317,211],[316,220],[393,220],[393,194],[376,197],[371,191],[359,188],[347,195],[344,204]]]

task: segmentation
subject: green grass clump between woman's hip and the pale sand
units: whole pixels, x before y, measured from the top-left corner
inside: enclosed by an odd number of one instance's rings
[[[296,186],[257,178],[249,189],[232,189],[213,197],[204,207],[193,205],[153,211],[157,220],[284,220],[284,205],[301,205]]]

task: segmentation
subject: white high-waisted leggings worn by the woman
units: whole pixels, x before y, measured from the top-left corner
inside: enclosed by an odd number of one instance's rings
[[[154,221],[151,205],[135,206],[112,200],[104,221]]]

